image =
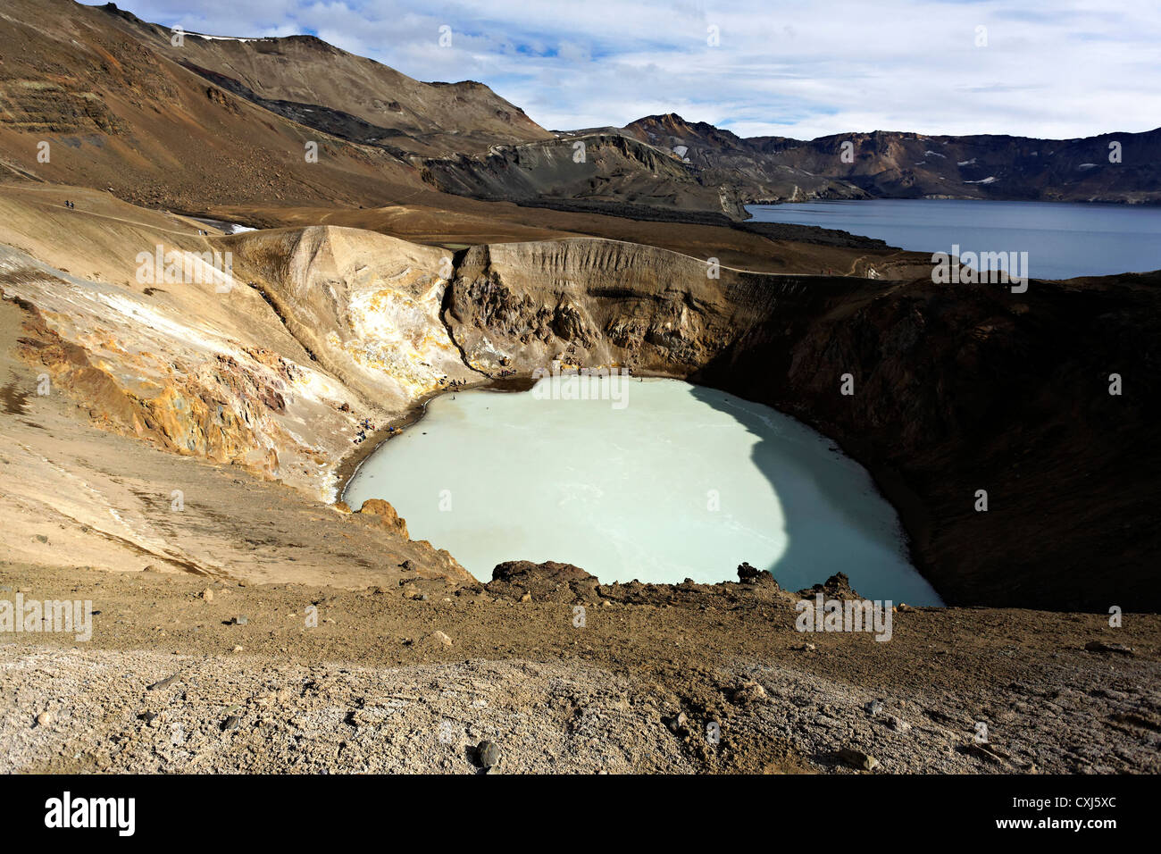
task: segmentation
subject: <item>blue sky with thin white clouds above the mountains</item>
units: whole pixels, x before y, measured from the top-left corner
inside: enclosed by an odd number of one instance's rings
[[[421,80],[479,80],[557,130],[654,113],[800,138],[1067,138],[1161,125],[1161,0],[118,5],[211,35],[311,33]]]

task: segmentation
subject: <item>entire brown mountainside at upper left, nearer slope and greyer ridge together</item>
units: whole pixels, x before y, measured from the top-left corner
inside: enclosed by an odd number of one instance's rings
[[[486,87],[423,84],[313,37],[186,34],[175,46],[115,7],[7,9],[0,165],[14,175],[188,211],[378,207],[426,185],[639,218],[744,216],[729,186],[656,146],[622,134],[557,138]]]

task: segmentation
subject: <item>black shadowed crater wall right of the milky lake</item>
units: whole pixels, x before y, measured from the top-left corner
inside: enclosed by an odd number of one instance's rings
[[[921,280],[791,337],[774,320],[756,326],[695,379],[839,440],[900,509],[947,602],[1155,611],[1159,285],[1012,295]]]

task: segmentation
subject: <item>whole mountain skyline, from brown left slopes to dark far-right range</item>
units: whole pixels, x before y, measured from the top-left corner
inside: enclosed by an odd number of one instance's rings
[[[665,114],[549,131],[483,84],[421,82],[313,36],[187,33],[175,45],[172,35],[113,3],[9,0],[0,168],[175,208],[290,198],[381,206],[437,191],[717,222],[745,218],[747,203],[807,199],[1161,202],[1161,129],[799,141]],[[68,156],[37,160],[49,135]],[[318,163],[303,157],[310,142]]]

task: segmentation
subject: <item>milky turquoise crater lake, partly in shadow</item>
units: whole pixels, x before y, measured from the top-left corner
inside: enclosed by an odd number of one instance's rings
[[[390,501],[482,581],[505,560],[556,560],[606,583],[712,583],[747,561],[794,590],[844,572],[868,598],[939,603],[892,507],[823,436],[677,380],[590,380],[596,400],[563,399],[567,382],[434,399],[347,503]]]

